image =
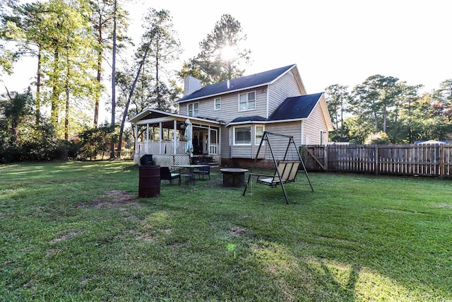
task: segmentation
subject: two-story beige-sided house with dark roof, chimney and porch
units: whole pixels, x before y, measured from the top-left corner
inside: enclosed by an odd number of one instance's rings
[[[184,97],[176,103],[179,113],[148,108],[129,120],[135,137],[142,133],[136,163],[148,153],[162,165],[186,161],[187,120],[193,128],[190,155],[218,163],[254,158],[264,131],[291,135],[300,146],[326,144],[333,130],[323,93],[306,93],[296,64],[202,88],[201,81],[187,77]]]

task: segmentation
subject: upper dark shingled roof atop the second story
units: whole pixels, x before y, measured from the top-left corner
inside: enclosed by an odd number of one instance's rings
[[[242,76],[241,78],[232,79],[228,81],[222,81],[220,83],[211,84],[204,86],[203,88],[185,95],[180,98],[175,103],[182,103],[189,100],[198,100],[201,98],[208,98],[215,95],[221,95],[224,93],[232,93],[235,91],[242,91],[244,89],[250,89],[258,86],[268,85],[273,83],[275,80],[279,79],[283,74],[290,71],[292,68],[297,66],[296,64],[280,67],[277,69],[272,69],[268,71],[263,71],[258,74],[251,74],[250,76]]]

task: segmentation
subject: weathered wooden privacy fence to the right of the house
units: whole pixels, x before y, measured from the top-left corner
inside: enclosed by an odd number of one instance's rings
[[[300,147],[307,170],[452,178],[452,144]]]

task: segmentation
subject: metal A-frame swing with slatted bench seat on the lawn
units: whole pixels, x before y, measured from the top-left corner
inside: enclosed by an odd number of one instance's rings
[[[278,137],[286,137],[288,139],[287,148],[285,149],[284,158],[282,161],[277,161],[275,158],[275,154],[273,153],[273,149],[270,144],[270,139],[268,136],[278,136]],[[268,175],[268,174],[260,174],[260,173],[254,173],[254,169],[256,168],[256,161],[258,159],[258,155],[261,152],[261,148],[263,144],[266,144],[267,148],[270,150],[271,157],[273,159],[273,163],[275,164],[275,174],[274,175]],[[287,158],[289,149],[292,146],[295,151],[297,151],[297,159],[296,160],[289,160]],[[302,169],[304,171],[304,174],[306,175],[306,178],[309,182],[309,186],[311,187],[312,192],[314,192],[314,187],[311,185],[311,180],[309,180],[309,176],[306,170],[306,167],[304,166],[304,162],[302,159],[302,156],[300,156],[299,151],[297,149],[297,146],[295,145],[294,137],[291,137],[289,135],[285,134],[278,134],[273,132],[263,132],[263,136],[261,139],[261,144],[259,144],[259,147],[257,149],[256,156],[254,158],[253,167],[251,168],[248,176],[248,180],[245,183],[245,189],[243,191],[242,196],[245,195],[246,190],[248,189],[248,186],[250,185],[251,178],[256,178],[256,183],[262,184],[262,185],[268,185],[269,187],[276,187],[277,185],[281,185],[284,192],[285,197],[285,203],[289,204],[289,198],[287,197],[287,192],[285,191],[284,184],[288,182],[295,182],[295,178],[297,178],[297,172],[299,170],[300,164],[302,165]]]

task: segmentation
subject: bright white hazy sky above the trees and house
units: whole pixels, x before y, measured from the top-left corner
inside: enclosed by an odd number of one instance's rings
[[[351,90],[375,74],[422,84],[426,92],[452,79],[449,0],[133,0],[126,9],[135,42],[150,7],[165,8],[173,17],[184,49],[178,69],[198,54],[199,42],[227,13],[247,35],[252,62],[244,75],[297,64],[307,93],[333,84]],[[18,64],[0,93],[5,85],[10,91],[26,88],[32,76],[24,79],[27,71],[35,65]]]

